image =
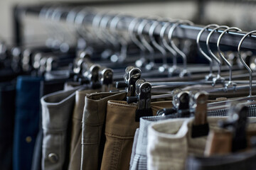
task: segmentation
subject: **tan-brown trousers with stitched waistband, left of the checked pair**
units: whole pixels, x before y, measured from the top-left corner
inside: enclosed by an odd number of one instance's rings
[[[153,115],[162,108],[172,106],[171,101],[151,102]],[[101,169],[129,169],[134,134],[139,128],[135,121],[137,104],[126,101],[108,101],[105,136],[106,143]],[[137,144],[138,146],[139,144]]]

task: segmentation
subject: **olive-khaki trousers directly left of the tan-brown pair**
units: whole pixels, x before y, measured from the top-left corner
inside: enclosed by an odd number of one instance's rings
[[[122,101],[126,93],[99,93],[85,97],[82,115],[82,159],[81,169],[100,169],[105,147],[105,116],[107,101]]]

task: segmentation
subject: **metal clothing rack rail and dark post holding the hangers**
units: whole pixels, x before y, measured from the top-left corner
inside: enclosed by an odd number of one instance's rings
[[[167,0],[165,0],[166,2]],[[114,1],[113,1],[114,2]],[[134,3],[134,1],[132,1]],[[131,3],[132,3],[131,2]],[[139,1],[140,3],[143,3],[143,1]],[[138,3],[139,3],[138,2]],[[153,1],[151,1],[153,2]],[[123,1],[122,4],[127,3],[126,1]],[[86,6],[94,6],[97,3],[87,3]],[[69,4],[70,9],[72,8],[72,6],[76,6],[78,4]],[[65,5],[64,5],[65,6]],[[16,6],[16,8],[14,8],[14,13],[16,14],[15,16],[19,16],[18,14],[21,13],[26,13],[26,15],[32,15],[32,16],[39,16],[39,13],[41,11],[41,9],[45,7],[43,5],[40,6]],[[63,21],[66,19],[66,16],[68,15],[68,12],[64,12],[63,15],[61,15],[61,18]],[[83,23],[84,24],[92,24],[92,20],[94,18],[94,16],[96,16],[97,13],[90,13],[90,15],[87,14],[86,18],[84,19]],[[109,15],[109,14],[107,14]],[[109,15],[110,17],[114,17],[114,15],[111,16],[111,14]],[[121,15],[120,15],[121,16]],[[19,18],[19,17],[17,17]],[[20,24],[20,18],[17,20],[16,18],[16,42],[17,44],[19,42],[21,42],[21,36],[20,36],[20,28],[18,28],[18,24]],[[128,30],[129,28],[129,23],[134,19],[133,16],[122,16],[122,19],[117,23],[117,30]],[[187,25],[180,25],[176,28],[176,30],[174,30],[174,35],[173,37],[175,38],[183,38],[183,39],[190,39],[190,40],[196,40],[197,35],[199,33],[199,31],[203,28],[204,26],[199,26],[199,25],[193,25],[193,26],[187,26]],[[143,33],[144,34],[148,34],[149,33],[149,28],[150,26],[146,26],[144,28]],[[134,29],[135,31],[137,30],[136,28]],[[159,35],[161,30],[161,27],[157,27],[154,30],[154,35]],[[208,31],[210,31],[212,29],[208,29]],[[218,37],[220,35],[220,33],[222,33],[223,30],[218,30],[218,33],[214,33],[211,38],[210,38],[210,43],[216,43],[218,40]],[[242,39],[242,37],[246,34],[247,32],[242,31],[242,32],[233,32],[233,31],[229,31],[228,33],[226,33],[226,35],[223,36],[220,45],[227,45],[229,47],[234,47],[237,48],[238,44],[240,42],[240,40]],[[206,38],[207,38],[207,31],[205,31],[203,33],[203,35],[201,35],[201,42],[206,42]],[[242,47],[247,48],[247,50],[255,50],[256,49],[256,35],[250,35],[249,37],[247,37],[244,42],[242,43]]]

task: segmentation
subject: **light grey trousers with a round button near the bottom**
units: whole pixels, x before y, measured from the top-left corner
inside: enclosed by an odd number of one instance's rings
[[[75,91],[58,91],[41,98],[42,105],[42,169],[68,169],[71,118]]]

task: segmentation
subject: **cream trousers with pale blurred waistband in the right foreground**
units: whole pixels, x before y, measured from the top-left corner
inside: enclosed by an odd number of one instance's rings
[[[210,130],[221,130],[218,120],[226,118],[208,118]],[[188,154],[203,155],[207,136],[192,138],[192,124],[193,118],[178,118],[149,125],[147,169],[185,169]],[[248,130],[255,128],[255,123],[248,125]]]

